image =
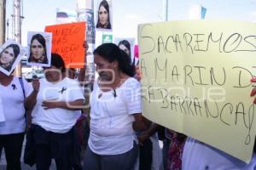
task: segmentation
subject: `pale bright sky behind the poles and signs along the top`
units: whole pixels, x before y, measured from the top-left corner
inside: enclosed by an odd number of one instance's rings
[[[84,0],[85,1],[85,0]],[[165,20],[166,0],[112,0],[113,36],[137,37],[137,25]],[[205,20],[245,20],[256,22],[256,0],[167,0],[168,20],[188,20],[189,8],[199,4],[207,8]],[[77,0],[23,0],[21,26],[22,45],[26,46],[27,31],[44,31],[45,26],[55,25],[56,8],[76,10]],[[13,0],[7,0],[9,38]]]

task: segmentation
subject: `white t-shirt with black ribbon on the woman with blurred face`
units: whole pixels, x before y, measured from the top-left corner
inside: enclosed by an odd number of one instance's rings
[[[77,121],[76,111],[54,108],[44,110],[44,100],[74,101],[84,99],[79,83],[65,77],[61,82],[48,82],[45,78],[40,80],[37,103],[32,111],[32,123],[54,133],[67,133]]]

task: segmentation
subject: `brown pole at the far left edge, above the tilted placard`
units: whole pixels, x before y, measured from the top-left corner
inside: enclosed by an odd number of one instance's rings
[[[5,42],[6,0],[0,0],[0,45]]]

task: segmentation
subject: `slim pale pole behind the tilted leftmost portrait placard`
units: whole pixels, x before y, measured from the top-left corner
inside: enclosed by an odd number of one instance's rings
[[[14,34],[15,41],[21,44],[21,15],[20,15],[20,0],[14,0]],[[21,65],[17,65],[15,75],[21,76]]]

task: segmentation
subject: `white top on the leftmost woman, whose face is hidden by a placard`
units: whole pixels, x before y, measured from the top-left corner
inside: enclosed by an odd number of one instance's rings
[[[31,94],[32,86],[22,78],[26,97]],[[9,86],[0,84],[0,98],[2,100],[5,122],[0,122],[0,134],[23,133],[26,126],[24,94],[19,77],[14,77]]]

